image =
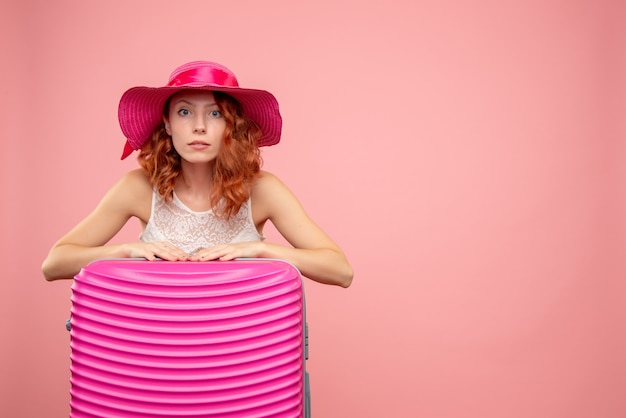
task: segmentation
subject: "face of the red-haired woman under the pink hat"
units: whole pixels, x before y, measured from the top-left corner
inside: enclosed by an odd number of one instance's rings
[[[174,148],[184,161],[215,160],[222,147],[226,121],[213,93],[189,90],[175,94],[163,121]]]

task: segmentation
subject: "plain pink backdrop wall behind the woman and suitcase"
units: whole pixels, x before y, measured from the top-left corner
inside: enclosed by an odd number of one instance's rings
[[[623,2],[0,15],[0,415],[68,415],[71,283],[39,266],[136,166],[119,160],[120,95],[211,59],[277,96],[265,168],[355,268],[348,290],[306,284],[315,417],[626,416]]]

